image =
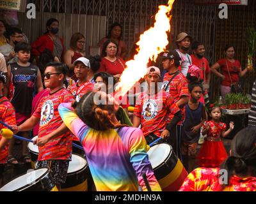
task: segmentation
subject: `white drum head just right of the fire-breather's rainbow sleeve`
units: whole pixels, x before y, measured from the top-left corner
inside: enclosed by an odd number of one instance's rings
[[[166,143],[154,145],[148,150],[148,160],[150,161],[152,168],[156,168],[162,164],[172,152],[172,147]]]

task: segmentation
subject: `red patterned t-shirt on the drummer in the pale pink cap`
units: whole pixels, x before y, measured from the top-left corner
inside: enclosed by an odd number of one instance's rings
[[[134,115],[141,119],[143,135],[154,133],[161,136],[167,125],[169,115],[174,115],[180,109],[167,92],[161,90],[153,96],[141,92],[134,108]]]

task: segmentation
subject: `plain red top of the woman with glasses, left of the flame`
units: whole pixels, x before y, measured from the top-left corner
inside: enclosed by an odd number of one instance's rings
[[[122,74],[125,68],[125,62],[122,58],[116,57],[115,62],[111,62],[106,58],[103,58],[102,61],[100,62],[100,71],[106,71],[109,74],[115,76]]]

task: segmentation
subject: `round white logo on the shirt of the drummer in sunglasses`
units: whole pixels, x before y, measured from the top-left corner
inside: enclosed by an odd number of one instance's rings
[[[53,116],[54,116],[53,103],[51,100],[48,100],[44,103],[41,109],[40,126],[44,126],[45,124],[50,122]]]

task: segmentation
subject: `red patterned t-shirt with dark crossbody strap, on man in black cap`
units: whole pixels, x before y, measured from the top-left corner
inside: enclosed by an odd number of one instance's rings
[[[163,89],[165,89],[166,85],[169,83],[171,78],[173,77],[173,73],[166,73],[163,79]],[[182,73],[179,73],[176,77],[173,78],[172,82],[168,86],[166,92],[169,92],[172,98],[174,99],[175,103],[179,101],[182,96],[189,96],[188,91],[188,80]],[[182,120],[178,123],[179,125],[183,123],[186,114],[185,106],[181,109],[182,110]],[[168,118],[168,122],[173,119],[173,115],[170,114]]]

